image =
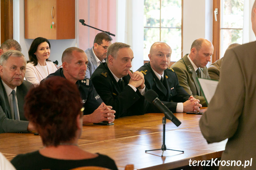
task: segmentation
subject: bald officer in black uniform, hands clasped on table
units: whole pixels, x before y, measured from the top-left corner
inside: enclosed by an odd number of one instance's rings
[[[171,58],[171,47],[163,42],[156,42],[150,48],[148,55],[150,62],[140,67],[138,71],[144,74],[146,90],[152,89],[158,93],[158,98],[172,112],[198,111],[201,104],[199,100],[190,96],[179,85],[177,75],[168,67]],[[152,104],[149,104],[147,113],[159,112]]]

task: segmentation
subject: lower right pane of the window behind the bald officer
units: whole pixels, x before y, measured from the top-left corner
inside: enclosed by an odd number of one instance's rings
[[[161,28],[161,41],[171,47],[171,61],[181,59],[181,29]]]

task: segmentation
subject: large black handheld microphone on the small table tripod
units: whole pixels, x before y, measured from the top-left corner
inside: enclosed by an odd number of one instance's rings
[[[164,116],[171,120],[177,127],[181,124],[179,119],[177,119],[177,117],[175,117],[174,114],[159,100],[158,94],[155,93],[154,90],[148,90],[144,97],[148,102],[157,106],[158,109],[163,112]]]

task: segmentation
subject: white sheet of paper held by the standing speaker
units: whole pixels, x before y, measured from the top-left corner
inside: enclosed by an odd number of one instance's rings
[[[203,79],[203,78],[198,78],[198,82],[201,90],[203,91],[203,96],[206,100],[206,103],[208,105],[215,93],[215,90],[219,82],[216,80]]]

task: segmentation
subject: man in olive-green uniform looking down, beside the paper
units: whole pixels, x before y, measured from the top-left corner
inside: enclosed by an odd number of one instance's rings
[[[188,94],[199,99],[203,107],[207,104],[196,78],[210,79],[206,65],[211,61],[213,50],[210,41],[204,38],[196,39],[191,45],[190,54],[186,54],[171,66],[178,76],[179,84]]]

